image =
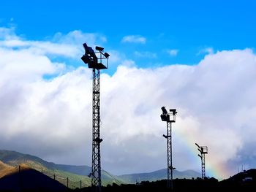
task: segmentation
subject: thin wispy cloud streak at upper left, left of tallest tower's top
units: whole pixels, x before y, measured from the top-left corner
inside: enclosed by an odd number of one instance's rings
[[[56,33],[53,39],[29,41],[15,34],[15,28],[0,28],[0,47],[29,50],[37,55],[59,55],[67,58],[80,58],[83,54],[81,42],[95,46],[95,42],[106,42],[100,34],[84,34],[71,31],[68,34]]]

